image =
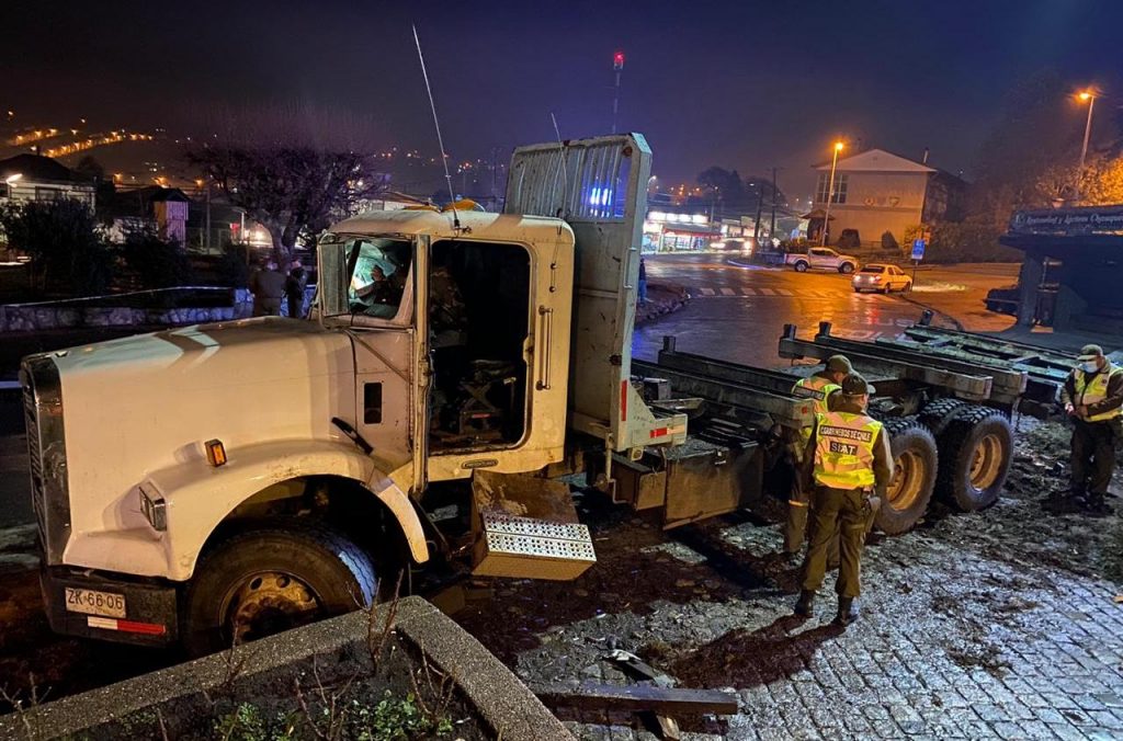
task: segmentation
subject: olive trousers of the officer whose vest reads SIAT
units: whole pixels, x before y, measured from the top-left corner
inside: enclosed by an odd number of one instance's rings
[[[866,545],[870,504],[860,488],[815,486],[811,495],[811,545],[803,561],[803,588],[816,592],[827,575],[827,557],[832,541],[839,543],[839,596],[861,593],[861,549]]]

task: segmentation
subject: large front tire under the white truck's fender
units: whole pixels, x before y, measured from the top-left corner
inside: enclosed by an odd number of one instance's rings
[[[377,594],[367,555],[311,523],[235,536],[195,568],[183,609],[183,643],[204,656],[236,643],[368,606]]]

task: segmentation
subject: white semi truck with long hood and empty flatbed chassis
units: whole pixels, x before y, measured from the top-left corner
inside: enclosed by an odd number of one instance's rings
[[[650,166],[639,135],[522,147],[503,213],[381,211],[332,227],[309,320],[25,358],[53,629],[203,653],[369,604],[432,561],[575,578],[595,555],[563,483],[573,473],[667,528],[759,496],[811,420],[794,377],[673,341],[633,367]],[[791,332],[780,349],[834,351],[829,328],[820,336]],[[966,472],[944,482],[961,507],[993,501],[1003,414],[1030,372],[846,349],[884,391],[878,409],[901,418],[883,527],[923,515],[938,447]],[[984,431],[966,449],[962,420]]]

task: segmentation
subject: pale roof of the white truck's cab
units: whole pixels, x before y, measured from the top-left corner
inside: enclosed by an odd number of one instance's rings
[[[482,211],[457,211],[460,234],[453,227],[451,211],[428,209],[404,209],[399,211],[367,211],[331,228],[336,234],[359,235],[432,235],[435,237],[458,237],[465,229],[473,239],[495,239],[499,241],[524,241],[556,239],[558,229],[572,232],[562,219],[511,213],[486,213]],[[568,239],[573,241],[573,236]]]

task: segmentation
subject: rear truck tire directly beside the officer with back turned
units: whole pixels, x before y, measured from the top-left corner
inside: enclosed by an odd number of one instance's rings
[[[888,534],[907,532],[920,522],[932,501],[937,479],[935,438],[915,417],[887,420],[893,452],[893,478],[874,524]]]

